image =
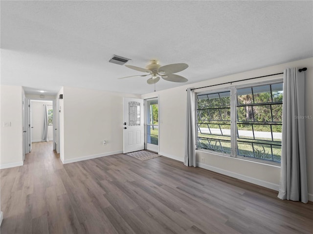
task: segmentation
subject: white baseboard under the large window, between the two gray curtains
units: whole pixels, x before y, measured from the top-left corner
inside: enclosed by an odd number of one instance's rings
[[[217,172],[217,173],[223,174],[225,176],[230,176],[230,177],[233,177],[233,178],[236,178],[236,179],[244,180],[244,181],[252,183],[252,184],[260,185],[260,186],[266,187],[268,189],[272,189],[272,190],[275,190],[275,191],[279,190],[279,185],[278,184],[274,184],[274,183],[270,183],[270,182],[267,182],[267,181],[264,181],[264,180],[252,178],[250,176],[244,176],[244,175],[241,175],[241,174],[238,174],[238,173],[235,173],[235,172],[230,172],[230,171],[227,171],[227,170],[223,170],[223,169],[220,169],[220,168],[217,168],[217,167],[213,167],[213,166],[210,166],[210,165],[207,165],[207,164],[204,164],[204,163],[200,163],[200,162],[197,162],[197,166],[201,167],[203,169],[212,171],[212,172]]]

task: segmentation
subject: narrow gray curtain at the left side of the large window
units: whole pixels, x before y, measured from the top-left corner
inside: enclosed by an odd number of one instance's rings
[[[197,166],[196,163],[196,122],[195,122],[195,94],[188,88],[187,89],[187,122],[186,122],[186,142],[185,142],[185,158],[184,164],[186,166]]]

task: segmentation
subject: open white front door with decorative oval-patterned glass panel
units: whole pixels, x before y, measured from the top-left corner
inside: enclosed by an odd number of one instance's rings
[[[123,153],[144,150],[143,99],[123,98]]]

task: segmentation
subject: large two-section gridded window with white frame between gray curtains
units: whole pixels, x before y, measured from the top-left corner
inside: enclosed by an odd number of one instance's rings
[[[198,149],[280,162],[281,81],[199,93],[197,104]]]

